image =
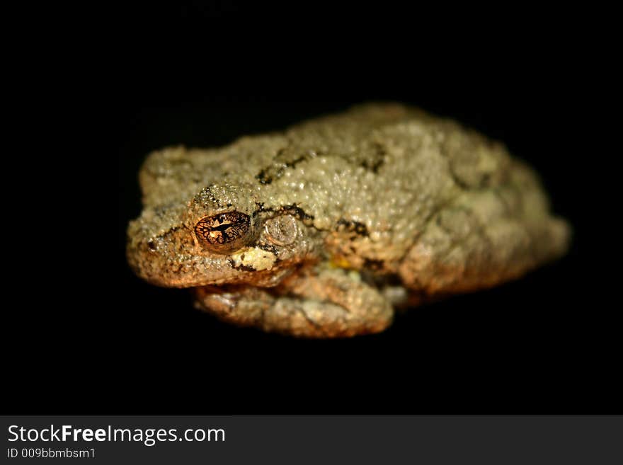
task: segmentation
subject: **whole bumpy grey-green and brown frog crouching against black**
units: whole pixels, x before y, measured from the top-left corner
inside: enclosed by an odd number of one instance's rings
[[[127,260],[222,321],[299,338],[379,333],[404,309],[517,280],[568,251],[539,175],[448,117],[362,103],[139,171]]]

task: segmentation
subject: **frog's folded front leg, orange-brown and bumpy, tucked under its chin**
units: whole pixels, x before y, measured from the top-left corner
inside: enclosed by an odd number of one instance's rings
[[[394,316],[389,301],[356,272],[312,268],[278,287],[209,286],[197,306],[241,326],[304,338],[341,338],[383,331]]]

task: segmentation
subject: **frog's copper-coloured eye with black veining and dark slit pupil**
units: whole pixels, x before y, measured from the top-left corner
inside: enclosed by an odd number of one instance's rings
[[[251,218],[240,212],[203,217],[195,225],[195,234],[205,246],[223,251],[243,246],[251,231]]]

